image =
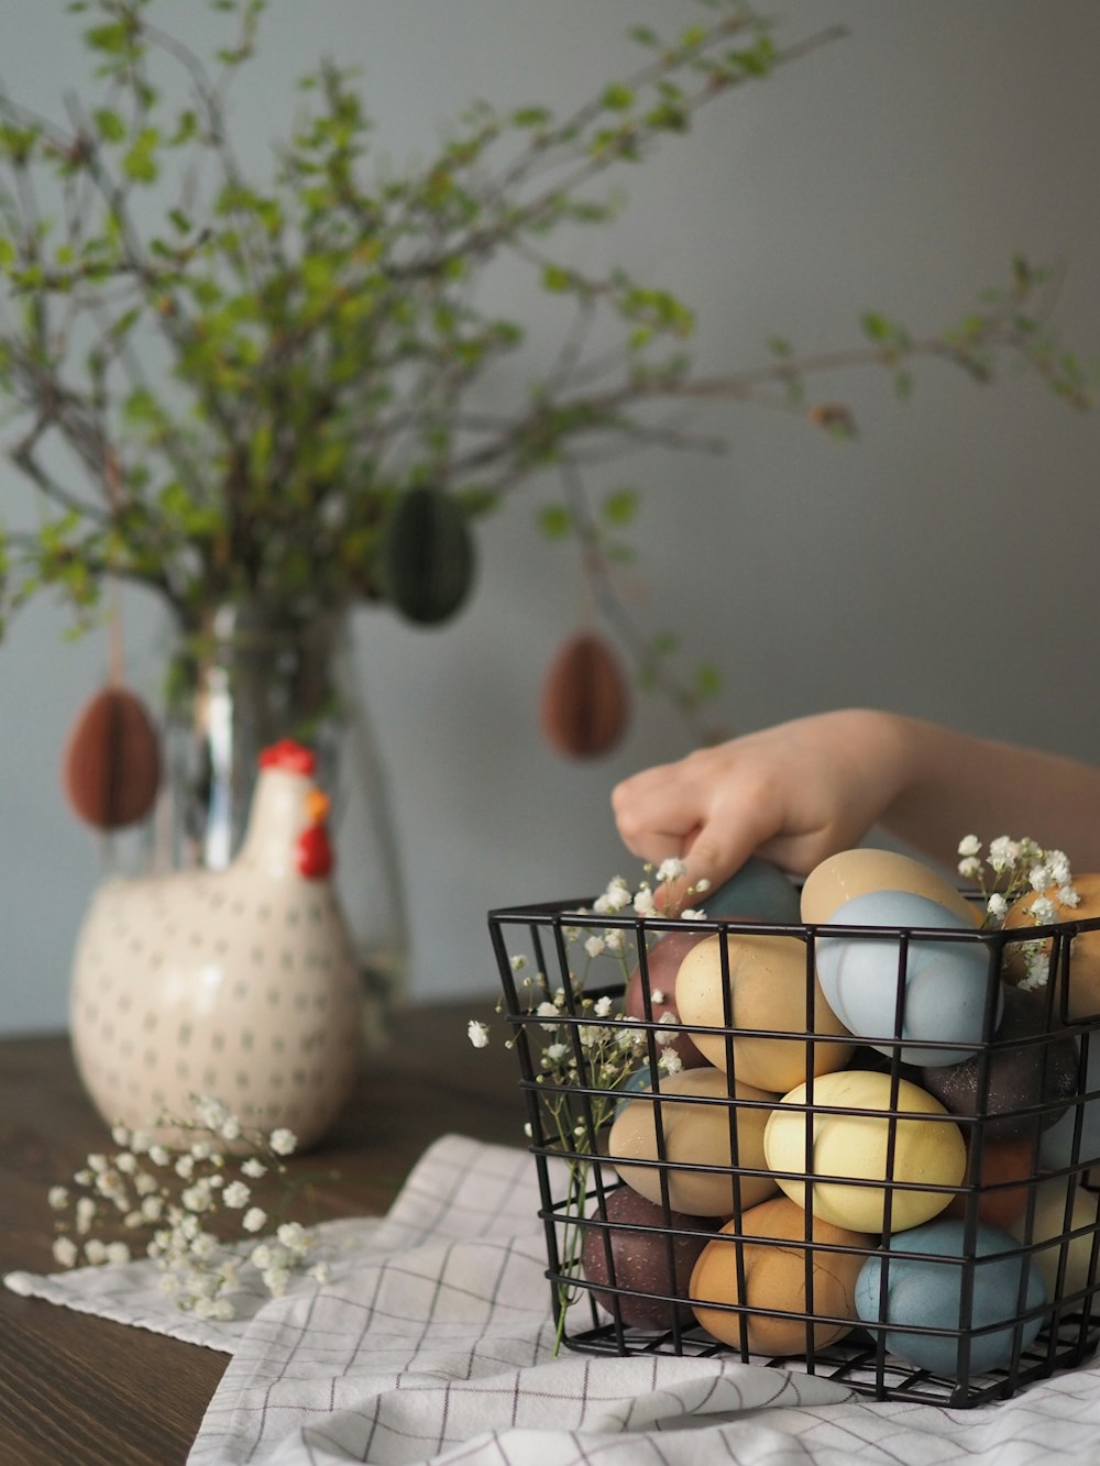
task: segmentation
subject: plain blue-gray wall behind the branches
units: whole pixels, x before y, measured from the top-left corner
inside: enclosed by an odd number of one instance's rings
[[[205,9],[173,9],[199,38]],[[720,371],[761,359],[776,331],[807,350],[854,343],[865,306],[936,328],[1022,251],[1065,264],[1060,320],[1100,356],[1100,7],[780,9],[783,35],[830,21],[851,34],[720,103],[689,141],[628,174],[631,207],[615,237],[581,242],[584,262],[620,259],[686,296],[700,364]],[[364,66],[380,148],[400,160],[474,95],[568,106],[625,69],[635,19],[694,18],[688,0],[273,0],[239,111],[261,147],[285,122],[292,79],[331,50]],[[81,53],[62,0],[3,0],[0,57],[7,85],[44,108],[73,85]],[[527,314],[515,290],[502,277],[500,308]],[[543,321],[538,301],[529,309]],[[532,371],[541,331],[524,358]],[[855,406],[857,443],[713,406],[698,422],[727,438],[723,459],[651,452],[593,476],[597,487],[629,475],[645,491],[638,617],[720,664],[717,711],[732,729],[859,702],[1096,755],[1100,416],[1074,415],[1018,374],[980,388],[934,364],[903,408],[874,372],[837,375],[821,393]],[[0,475],[0,494],[7,513],[22,494],[13,475]],[[609,789],[689,746],[653,701],[597,762],[565,764],[540,740],[538,686],[579,598],[568,554],[532,525],[549,494],[532,485],[485,526],[477,600],[450,627],[356,619],[422,998],[493,991],[488,907],[635,874]],[[128,614],[131,680],[151,690],[158,617],[139,601]],[[67,642],[63,629],[40,604],[0,648],[4,1031],[65,1023],[70,951],[100,878],[59,764],[106,644]]]

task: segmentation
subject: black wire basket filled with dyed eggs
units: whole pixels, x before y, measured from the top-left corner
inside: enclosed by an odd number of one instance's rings
[[[953,1407],[1097,1347],[1100,1013],[1072,995],[1074,940],[1100,918],[945,931],[576,902],[488,924],[563,1347],[729,1356]],[[666,988],[705,941],[720,1012],[686,1023]],[[818,966],[837,941],[874,944],[884,1031],[823,1025]],[[776,985],[747,1026],[739,953],[769,943],[796,950],[795,1007]],[[912,1034],[928,951],[977,965],[977,1026],[950,1050]],[[697,1039],[707,1061],[683,1048]],[[667,1057],[681,1051],[689,1067]],[[770,1053],[785,1078],[767,1091]]]

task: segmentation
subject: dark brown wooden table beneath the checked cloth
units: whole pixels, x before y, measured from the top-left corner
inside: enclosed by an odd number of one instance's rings
[[[301,1163],[339,1171],[323,1218],[380,1215],[421,1152],[456,1132],[522,1145],[515,1056],[474,1050],[491,1003],[408,1009],[327,1141]],[[111,1148],[65,1035],[0,1042],[0,1272],[56,1270],[47,1189]],[[173,1466],[183,1462],[229,1356],[0,1289],[3,1466]]]

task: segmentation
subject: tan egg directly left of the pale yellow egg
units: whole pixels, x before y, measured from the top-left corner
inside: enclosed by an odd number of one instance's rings
[[[660,1123],[664,1155],[657,1163],[656,1098],[622,1105],[610,1129],[609,1160],[622,1180],[647,1201],[661,1205],[661,1170],[669,1177],[669,1205],[694,1217],[729,1217],[754,1207],[776,1190],[771,1176],[742,1176],[729,1170],[683,1170],[685,1165],[730,1167],[729,1080],[719,1069],[685,1069],[661,1079]],[[777,1097],[751,1085],[733,1086],[738,1165],[764,1171],[764,1124]],[[707,1101],[725,1100],[726,1104]],[[641,1163],[641,1164],[629,1164]],[[678,1168],[679,1163],[679,1168]]]

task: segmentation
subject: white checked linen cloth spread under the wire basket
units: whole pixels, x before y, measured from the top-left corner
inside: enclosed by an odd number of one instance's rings
[[[1100,1462],[1100,1368],[975,1410],[725,1359],[553,1356],[534,1163],[437,1141],[383,1220],[318,1229],[331,1278],[177,1314],[148,1262],[9,1287],[232,1355],[188,1466],[1047,1466]]]

